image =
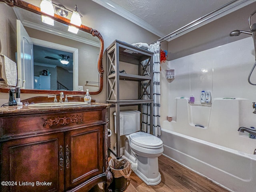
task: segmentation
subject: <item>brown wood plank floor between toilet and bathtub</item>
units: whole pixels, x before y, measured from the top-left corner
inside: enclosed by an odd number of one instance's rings
[[[147,186],[132,172],[126,192],[228,192],[163,155],[158,157],[158,162],[162,176],[160,184]]]

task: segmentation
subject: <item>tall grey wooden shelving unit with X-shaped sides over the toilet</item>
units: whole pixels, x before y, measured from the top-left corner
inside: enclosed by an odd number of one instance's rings
[[[116,156],[120,156],[120,106],[138,105],[142,110],[142,104],[149,104],[150,114],[153,114],[153,53],[115,40],[107,52],[107,102],[116,108]],[[145,64],[142,64],[146,61]],[[120,72],[120,62],[137,65],[137,74]],[[139,82],[138,98],[123,100],[120,98],[120,81]],[[146,82],[146,83],[145,83]],[[132,90],[130,90],[132,91]],[[146,96],[146,98],[145,98]],[[153,124],[153,116],[150,115],[150,124]]]

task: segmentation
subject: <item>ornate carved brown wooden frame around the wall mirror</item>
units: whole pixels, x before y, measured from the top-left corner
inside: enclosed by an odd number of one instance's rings
[[[23,0],[0,0],[0,2],[5,2],[9,6],[17,6],[26,10],[29,10],[31,12],[34,12],[36,14],[44,15],[53,18],[54,20],[61,22],[63,24],[71,25],[70,20],[67,18],[64,18],[62,16],[59,16],[57,14],[54,14],[54,16],[50,16],[48,14],[45,14],[40,11],[40,8],[37,6],[34,6],[30,3],[24,2]],[[96,92],[90,92],[91,95],[99,94],[102,91],[103,88],[103,66],[102,66],[102,56],[103,56],[103,49],[104,49],[104,40],[97,30],[94,30],[88,26],[81,25],[80,27],[75,26],[76,28],[79,28],[82,31],[88,32],[92,34],[92,36],[96,36],[100,40],[100,53],[98,57],[98,72],[100,73],[100,86],[98,91]],[[8,93],[9,88],[0,88],[0,92]],[[60,92],[64,92],[64,94],[86,94],[84,91],[58,91],[58,90],[32,90],[32,89],[21,89],[21,93],[32,93],[32,94],[59,94]]]

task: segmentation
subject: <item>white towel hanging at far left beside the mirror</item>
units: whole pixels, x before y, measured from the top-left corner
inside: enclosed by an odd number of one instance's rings
[[[17,84],[17,64],[4,56],[2,58],[2,78],[8,86],[16,86]]]

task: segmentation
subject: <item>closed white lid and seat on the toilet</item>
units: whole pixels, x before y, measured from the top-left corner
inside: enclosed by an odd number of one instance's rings
[[[129,135],[129,139],[133,144],[144,148],[156,149],[163,145],[162,140],[158,137],[144,132],[132,133]]]

